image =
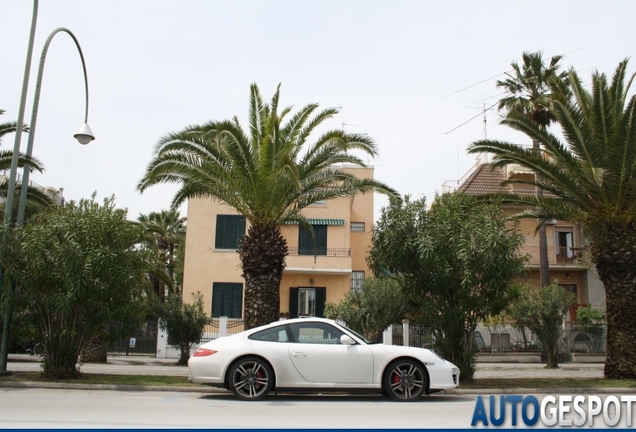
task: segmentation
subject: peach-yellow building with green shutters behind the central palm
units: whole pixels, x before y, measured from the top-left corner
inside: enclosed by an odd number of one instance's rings
[[[373,168],[345,167],[359,178],[373,178]],[[369,275],[373,194],[318,202],[303,210],[313,225],[317,256],[308,233],[283,225],[289,255],[280,285],[280,311],[322,316],[325,302],[338,302]],[[224,203],[207,198],[188,201],[188,229],[183,298],[203,294],[212,317],[243,318],[243,288],[238,241],[245,218]]]

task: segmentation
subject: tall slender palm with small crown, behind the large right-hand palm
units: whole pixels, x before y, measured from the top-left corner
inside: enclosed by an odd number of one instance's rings
[[[567,73],[559,73],[559,61],[561,56],[554,56],[550,64],[545,65],[541,52],[524,52],[523,65],[516,62],[511,64],[513,74],[507,74],[508,78],[497,81],[497,87],[503,87],[508,96],[499,101],[499,110],[505,110],[507,114],[518,113],[533,119],[540,127],[546,128],[554,120],[550,109],[552,104],[549,81],[554,77],[565,79]],[[541,151],[541,143],[532,140],[535,152]],[[540,178],[537,178],[540,181]],[[539,197],[543,196],[543,190],[537,188]],[[537,230],[539,236],[539,273],[541,286],[550,285],[550,264],[548,262],[548,242],[546,239],[545,224],[540,223]]]

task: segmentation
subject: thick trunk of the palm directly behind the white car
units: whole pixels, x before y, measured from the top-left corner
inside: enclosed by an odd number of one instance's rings
[[[275,225],[251,225],[239,244],[245,279],[245,330],[277,321],[287,241]]]

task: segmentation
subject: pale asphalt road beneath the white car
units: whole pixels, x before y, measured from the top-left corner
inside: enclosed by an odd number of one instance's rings
[[[541,401],[546,395],[533,396]],[[467,429],[477,401],[475,395],[434,394],[404,403],[381,395],[279,394],[241,402],[229,393],[0,388],[0,428]],[[512,426],[510,412],[507,406],[504,427]],[[563,418],[579,417],[570,410]],[[618,427],[629,426],[625,409],[619,418]],[[607,427],[602,415],[593,426]]]

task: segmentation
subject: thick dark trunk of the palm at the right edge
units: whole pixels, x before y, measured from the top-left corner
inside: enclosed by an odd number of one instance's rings
[[[592,238],[592,262],[605,285],[605,377],[636,379],[636,228],[602,227]]]

